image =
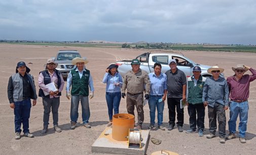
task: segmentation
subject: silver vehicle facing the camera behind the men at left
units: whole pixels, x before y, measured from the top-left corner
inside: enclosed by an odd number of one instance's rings
[[[76,65],[71,63],[72,59],[76,57],[81,58],[77,50],[59,50],[57,53],[55,61],[58,63],[58,66],[56,69],[61,73],[63,78],[67,78],[69,71],[76,68]]]

